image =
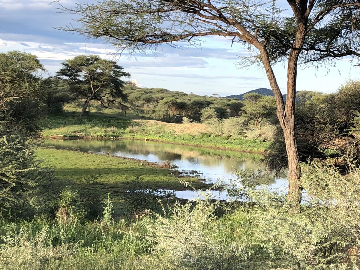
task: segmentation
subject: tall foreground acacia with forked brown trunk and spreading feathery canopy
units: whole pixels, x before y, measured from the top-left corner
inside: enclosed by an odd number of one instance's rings
[[[359,0],[287,0],[291,12],[276,0],[108,0],[62,7],[77,15],[78,28],[60,27],[89,38],[103,38],[131,52],[162,43],[224,36],[253,51],[274,92],[284,132],[289,167],[290,201],[300,202],[300,160],[295,136],[295,92],[298,62],[318,66],[325,60],[360,56]],[[287,60],[284,103],[273,64]]]

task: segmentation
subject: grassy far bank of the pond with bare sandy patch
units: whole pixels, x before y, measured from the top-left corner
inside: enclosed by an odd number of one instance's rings
[[[127,138],[146,139],[219,149],[264,152],[269,141],[237,136],[217,136],[204,124],[174,124],[159,121],[134,121],[107,114],[89,114],[78,120],[77,113],[65,113],[44,118],[43,136],[65,138]]]

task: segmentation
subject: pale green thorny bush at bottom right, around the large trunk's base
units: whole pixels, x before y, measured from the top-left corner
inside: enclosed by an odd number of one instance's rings
[[[231,216],[247,215],[249,233],[256,235],[249,240],[264,247],[267,261],[285,260],[300,269],[358,269],[360,168],[349,166],[349,174],[341,175],[330,164],[303,165],[306,193],[296,207],[287,203],[285,194],[237,185],[238,197],[253,204]]]

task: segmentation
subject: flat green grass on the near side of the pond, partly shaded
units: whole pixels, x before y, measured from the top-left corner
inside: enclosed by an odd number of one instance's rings
[[[152,193],[157,189],[189,189],[181,182],[189,182],[196,189],[209,187],[197,177],[180,178],[176,172],[146,161],[45,148],[38,149],[37,156],[55,169],[59,179],[53,183],[55,190],[60,192],[64,186],[78,190],[94,216],[108,192],[115,212],[124,216],[153,205],[159,207]],[[147,193],[139,192],[147,189]],[[172,194],[165,195],[171,202],[176,200]]]

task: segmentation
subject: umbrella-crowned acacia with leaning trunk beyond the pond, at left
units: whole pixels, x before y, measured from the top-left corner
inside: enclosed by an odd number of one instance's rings
[[[116,62],[102,59],[97,55],[79,55],[62,63],[57,72],[60,78],[66,78],[70,90],[77,98],[84,98],[80,117],[85,113],[91,100],[98,100],[108,108],[110,104],[126,101],[123,94],[126,82],[121,77],[130,77]]]

